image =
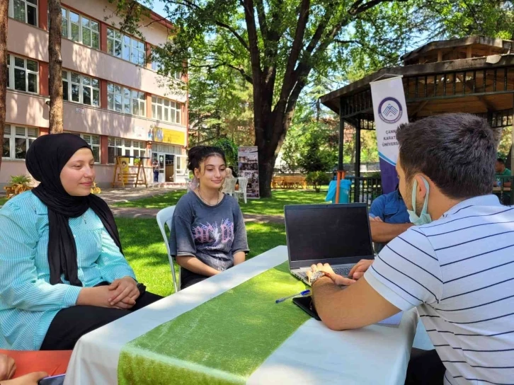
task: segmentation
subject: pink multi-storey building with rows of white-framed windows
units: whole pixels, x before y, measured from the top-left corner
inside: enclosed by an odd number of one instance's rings
[[[8,1],[0,186],[11,176],[28,175],[28,146],[49,127],[47,0]],[[159,183],[183,183],[188,98],[181,84],[187,76],[161,76],[147,59],[152,47],[168,40],[170,25],[152,13],[153,20],[142,21],[142,41],[113,28],[119,19],[111,8],[107,0],[62,1],[64,131],[91,145],[101,187],[113,182],[115,156],[146,156],[147,165],[157,159]],[[137,170],[134,163],[130,158],[130,172]],[[147,180],[154,180],[151,168]]]

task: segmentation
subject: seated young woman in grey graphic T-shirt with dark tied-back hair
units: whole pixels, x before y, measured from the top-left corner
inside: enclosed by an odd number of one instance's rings
[[[249,252],[237,200],[220,191],[226,168],[218,147],[195,146],[188,152],[196,188],[178,200],[169,241],[181,266],[181,289],[243,263]]]

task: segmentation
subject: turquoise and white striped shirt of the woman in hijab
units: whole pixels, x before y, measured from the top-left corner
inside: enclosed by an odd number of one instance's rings
[[[70,218],[79,280],[84,287],[129,276],[134,271],[93,212]],[[39,350],[61,309],[74,306],[81,287],[50,285],[47,207],[30,191],[0,209],[0,348]]]

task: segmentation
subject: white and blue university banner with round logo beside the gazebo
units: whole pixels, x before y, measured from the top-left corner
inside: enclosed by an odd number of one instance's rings
[[[398,184],[396,161],[399,144],[396,140],[396,130],[399,125],[409,123],[404,84],[401,81],[401,76],[394,76],[372,81],[370,86],[375,129],[377,130],[382,190],[387,194],[394,191]]]

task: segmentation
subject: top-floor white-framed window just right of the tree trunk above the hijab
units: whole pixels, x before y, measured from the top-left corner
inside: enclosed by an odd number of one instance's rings
[[[81,42],[88,47],[100,49],[100,23],[91,18],[61,8],[62,12],[62,37]]]

